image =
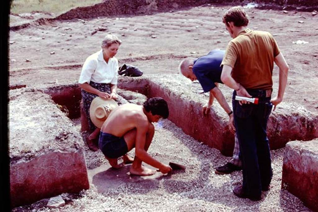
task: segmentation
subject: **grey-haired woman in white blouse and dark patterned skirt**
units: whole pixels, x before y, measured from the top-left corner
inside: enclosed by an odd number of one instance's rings
[[[83,107],[86,113],[91,134],[88,136],[88,147],[97,151],[96,141],[100,129],[95,127],[89,116],[89,107],[97,96],[118,101],[116,93],[118,79],[117,54],[121,41],[115,35],[106,35],[101,43],[101,50],[89,56],[79,77],[79,87],[82,88]]]

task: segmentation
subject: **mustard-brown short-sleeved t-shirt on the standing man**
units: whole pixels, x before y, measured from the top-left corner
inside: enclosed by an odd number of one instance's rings
[[[231,66],[231,76],[245,89],[272,89],[274,58],[279,53],[269,32],[247,28],[230,41],[221,65]]]

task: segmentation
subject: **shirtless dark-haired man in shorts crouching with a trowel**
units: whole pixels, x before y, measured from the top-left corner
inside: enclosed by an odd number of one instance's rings
[[[167,102],[159,97],[147,99],[143,105],[124,104],[116,107],[101,127],[99,148],[113,168],[121,168],[123,163],[117,160],[135,147],[135,159],[130,167],[130,174],[152,175],[156,170],[142,166],[142,161],[158,168],[166,174],[172,169],[151,157],[147,150],[155,133],[152,122],[169,116]]]

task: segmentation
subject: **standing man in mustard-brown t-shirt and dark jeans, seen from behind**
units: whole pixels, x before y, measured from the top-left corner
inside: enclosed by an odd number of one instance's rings
[[[269,189],[272,179],[271,157],[266,135],[268,117],[283,100],[288,65],[273,36],[266,31],[247,28],[248,19],[242,7],[232,7],[223,23],[233,38],[225,51],[221,80],[233,92],[234,125],[240,146],[243,184],[234,194],[258,201]],[[273,66],[279,67],[278,95],[271,99]],[[259,98],[258,104],[237,101],[235,96]]]

